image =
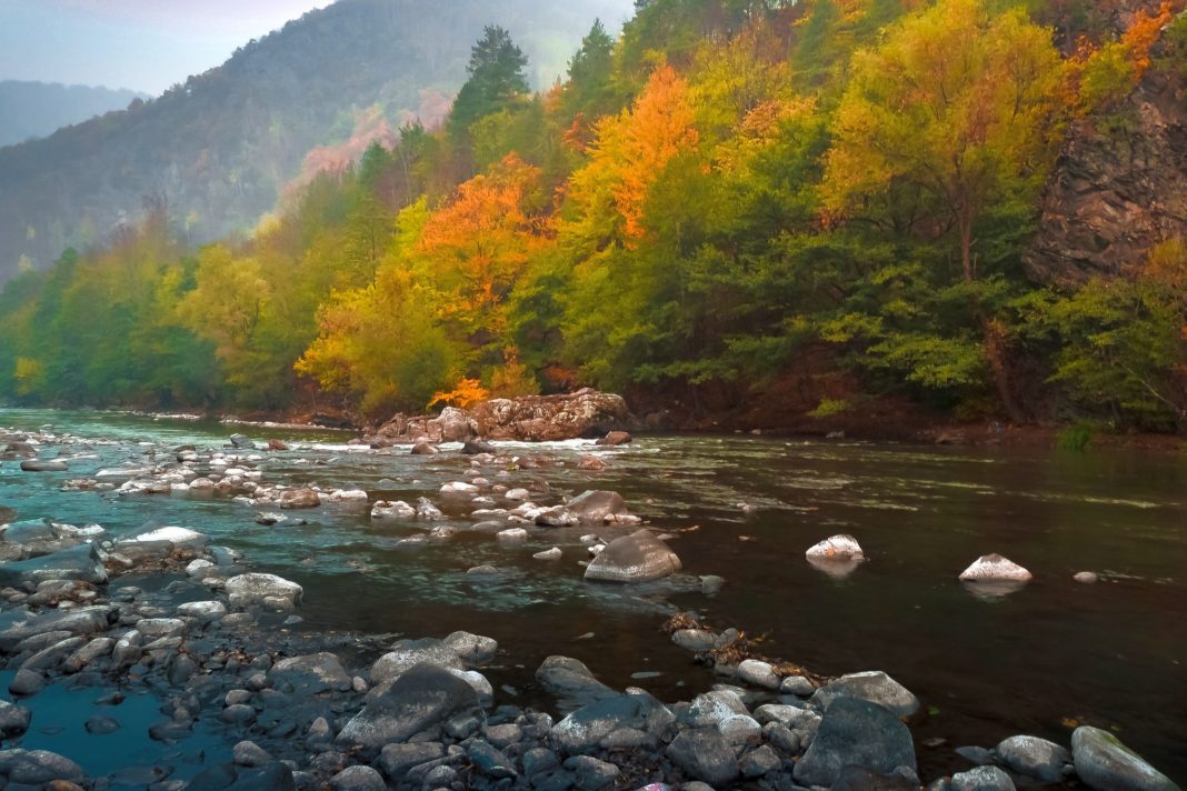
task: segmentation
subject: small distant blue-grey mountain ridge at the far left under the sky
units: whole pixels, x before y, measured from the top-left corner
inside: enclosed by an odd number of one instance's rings
[[[44,138],[71,123],[122,110],[134,98],[148,95],[127,89],[2,79],[0,146]]]

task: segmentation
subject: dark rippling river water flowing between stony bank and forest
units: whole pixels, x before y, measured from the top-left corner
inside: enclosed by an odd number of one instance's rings
[[[118,535],[146,523],[201,530],[245,553],[258,570],[305,586],[298,629],[489,634],[503,650],[488,675],[496,698],[508,702],[546,702],[532,672],[552,653],[584,661],[610,685],[690,700],[715,680],[660,626],[694,610],[715,627],[762,636],[768,656],[817,672],[889,672],[923,702],[912,723],[923,768],[951,764],[954,746],[989,747],[1017,733],[1066,745],[1069,728],[1087,723],[1113,729],[1172,778],[1187,780],[1183,457],[749,435],[640,436],[621,448],[501,447],[567,464],[515,471],[499,483],[546,480],[551,502],[585,489],[616,490],[633,512],[672,532],[684,573],[621,587],[582,580],[579,536],[588,529],[540,529],[515,548],[484,532],[408,548],[400,540],[423,525],[373,524],[363,510],[322,508],[291,513],[306,524],[268,528],[255,523],[256,509],[230,499],[61,491],[68,478],[142,465],[154,453],[164,460],[182,444],[220,447],[245,430],[293,444],[264,453],[268,483],[357,486],[372,500],[427,496],[466,525],[475,521],[469,509],[438,496],[442,483],[464,479],[470,460],[458,453],[412,457],[406,448],[349,447],[350,435],[336,432],[109,413],[0,409],[0,426],[52,426],[77,438],[64,457],[84,457],[71,460],[69,473],[0,465],[0,505],[23,518],[97,522]],[[610,466],[576,470],[590,452]],[[744,511],[742,503],[754,508]],[[837,532],[857,537],[869,557],[843,579],[804,559],[807,547]],[[532,559],[552,546],[564,550],[560,561]],[[1029,568],[1034,581],[998,598],[957,581],[991,551]],[[480,564],[501,573],[465,575]],[[1086,569],[1103,581],[1072,581]],[[705,592],[702,575],[726,582]],[[923,746],[931,738],[946,744]]]

